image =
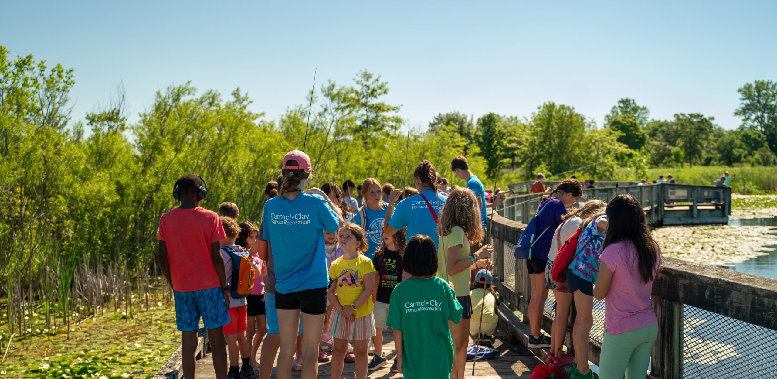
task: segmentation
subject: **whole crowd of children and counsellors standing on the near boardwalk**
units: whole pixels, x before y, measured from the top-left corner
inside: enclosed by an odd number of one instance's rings
[[[423,161],[413,171],[415,188],[390,190],[388,201],[377,179],[365,179],[359,207],[350,180],[343,187],[308,188],[310,158],[289,151],[277,181],[267,183],[259,227],[238,223],[233,203],[222,203],[220,215],[199,207],[207,196],[200,176],[178,179],[173,196],[180,206],[162,215],[158,239],[159,266],[173,288],[182,332],[184,376],[195,377],[202,318],[219,379],[254,379],[257,368],[267,379],[276,354],[275,374],[282,379],[292,370],[315,378],[318,363],[330,359],[333,378],[343,374],[343,363],[353,362],[355,377],[364,379],[388,363],[382,346],[386,327],[396,346],[392,372],[464,377],[469,335],[490,344],[497,300],[490,290],[486,190],[466,158],[455,158],[451,171],[466,186],[441,193],[440,176]],[[538,238],[537,252],[527,260],[529,347],[549,347],[549,364],[574,361],[573,377],[591,377],[585,353],[593,297],[606,296],[602,376],[604,362],[624,367],[621,375],[626,367],[644,374],[643,352],[648,350],[649,359],[652,347],[646,346],[656,338],[650,287],[660,253],[636,200],[619,195],[606,207],[590,200],[567,210],[580,192],[577,180],[566,179],[540,205],[538,227],[554,232]],[[580,239],[580,251],[566,281],[558,283],[548,274],[556,252],[573,236]],[[549,289],[558,302],[551,338],[539,330]],[[562,351],[572,301],[574,347],[581,352],[575,358]],[[637,341],[632,351],[623,348]]]

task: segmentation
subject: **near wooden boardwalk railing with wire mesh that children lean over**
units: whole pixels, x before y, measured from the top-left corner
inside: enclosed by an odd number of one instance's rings
[[[514,258],[524,227],[500,216],[494,216],[491,225],[494,283],[503,301],[500,318],[520,339],[528,339],[528,326],[519,324],[528,322],[531,297],[525,262]],[[548,333],[552,304],[551,296],[542,319]],[[767,353],[777,349],[777,280],[665,257],[653,287],[653,308],[659,337],[650,377],[777,377],[777,366]],[[596,301],[594,310],[588,359],[598,364],[604,303]],[[575,315],[573,307],[568,325]],[[573,352],[571,326],[565,346]],[[544,350],[533,352],[545,356]]]

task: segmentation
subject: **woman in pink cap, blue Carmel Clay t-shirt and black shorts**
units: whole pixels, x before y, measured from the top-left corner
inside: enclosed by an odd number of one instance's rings
[[[273,252],[276,280],[280,331],[277,367],[291,367],[301,317],[305,330],[302,372],[306,377],[315,377],[329,285],[323,231],[336,232],[343,217],[326,193],[315,188],[303,192],[312,177],[308,155],[289,151],[280,173],[280,196],[267,200],[262,217],[262,237]],[[276,375],[288,379],[291,370],[277,370]]]

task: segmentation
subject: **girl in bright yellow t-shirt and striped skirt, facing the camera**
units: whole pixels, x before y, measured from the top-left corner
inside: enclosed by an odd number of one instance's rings
[[[336,311],[330,336],[335,339],[332,357],[332,377],[343,374],[348,340],[354,340],[356,377],[367,377],[367,342],[375,336],[372,317],[372,290],[375,287],[375,267],[362,252],[369,247],[364,229],[357,224],[345,224],[340,229],[340,249],[343,256],[329,267],[334,282],[329,287],[329,303]]]

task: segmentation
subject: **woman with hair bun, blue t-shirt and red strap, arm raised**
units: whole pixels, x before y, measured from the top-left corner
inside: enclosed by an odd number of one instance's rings
[[[407,240],[413,235],[428,235],[439,247],[440,237],[437,235],[437,220],[440,217],[445,200],[448,196],[437,193],[437,171],[431,162],[424,160],[413,171],[416,179],[416,196],[408,197],[396,203],[402,190],[393,190],[389,196],[389,210],[386,212],[385,235],[394,235],[396,231],[407,228]],[[396,210],[395,210],[396,208]]]

